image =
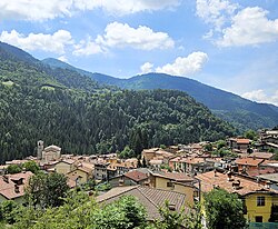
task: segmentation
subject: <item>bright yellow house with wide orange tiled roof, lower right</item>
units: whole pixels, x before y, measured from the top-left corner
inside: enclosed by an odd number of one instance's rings
[[[245,217],[250,222],[268,222],[271,206],[278,202],[278,191],[271,189],[269,183],[261,182],[256,178],[215,170],[199,173],[197,179],[200,180],[201,193],[209,192],[215,188],[237,193],[245,205]]]

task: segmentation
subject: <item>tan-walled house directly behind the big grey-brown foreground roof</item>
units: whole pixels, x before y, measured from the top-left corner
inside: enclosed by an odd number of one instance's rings
[[[148,186],[150,188],[171,190],[186,195],[186,201],[193,205],[196,188],[195,179],[181,172],[150,172]],[[147,183],[146,183],[147,185]]]

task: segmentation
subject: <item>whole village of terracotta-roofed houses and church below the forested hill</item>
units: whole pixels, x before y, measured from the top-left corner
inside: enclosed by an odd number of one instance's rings
[[[37,157],[0,166],[0,202],[23,201],[24,186],[33,173],[24,168],[18,173],[7,171],[11,166],[34,161],[46,173],[64,175],[72,189],[92,183],[99,187],[98,202],[136,196],[150,220],[158,217],[166,200],[172,211],[179,211],[192,208],[202,201],[203,193],[220,188],[238,195],[249,222],[268,222],[278,206],[277,151],[278,130],[260,131],[257,140],[237,137],[143,149],[140,158],[129,159],[120,159],[117,153],[62,153],[60,147],[44,147],[40,140]]]

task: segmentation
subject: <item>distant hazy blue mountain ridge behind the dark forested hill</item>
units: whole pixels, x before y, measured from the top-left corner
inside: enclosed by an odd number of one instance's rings
[[[232,122],[241,131],[247,129],[271,128],[278,123],[278,107],[254,102],[235,93],[185,77],[147,73],[129,79],[118,79],[106,74],[83,71],[56,59],[46,59],[42,62],[53,68],[59,67],[62,69],[69,68],[76,70],[99,83],[117,86],[122,89],[171,89],[185,91],[197,101],[207,106],[221,119]]]

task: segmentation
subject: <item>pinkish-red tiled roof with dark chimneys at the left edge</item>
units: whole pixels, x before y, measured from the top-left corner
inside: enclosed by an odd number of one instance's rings
[[[22,197],[24,195],[24,185],[28,183],[28,180],[32,175],[33,173],[30,171],[16,175],[6,175],[6,177],[8,178],[8,182],[4,181],[3,176],[0,176],[0,195],[9,200]],[[16,192],[16,183],[13,181],[18,181],[20,179],[23,179],[23,185],[19,185],[19,191]]]

